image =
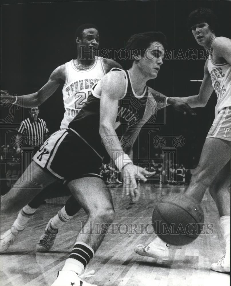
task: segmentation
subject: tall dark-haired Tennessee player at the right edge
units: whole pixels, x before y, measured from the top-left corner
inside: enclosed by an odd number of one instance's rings
[[[204,79],[198,95],[175,98],[191,107],[204,107],[213,90],[217,95],[215,119],[206,137],[197,168],[185,194],[201,202],[207,188],[216,202],[225,239],[225,255],[211,269],[230,272],[230,111],[231,111],[231,40],[216,37],[217,18],[207,8],[193,11],[188,25],[197,43],[209,51]],[[157,237],[148,245],[138,245],[135,252],[168,259],[168,245]],[[162,253],[162,254],[161,254]]]

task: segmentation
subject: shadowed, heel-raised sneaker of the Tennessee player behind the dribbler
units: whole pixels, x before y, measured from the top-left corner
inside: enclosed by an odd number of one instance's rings
[[[52,219],[50,219],[50,221],[48,222],[48,224],[44,230],[44,233],[40,237],[40,241],[36,245],[37,252],[49,251],[55,242],[55,238],[56,238],[56,235],[58,233],[58,229],[52,229],[52,227],[51,227]]]

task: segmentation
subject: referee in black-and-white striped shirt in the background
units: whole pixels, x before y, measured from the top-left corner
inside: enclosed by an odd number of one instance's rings
[[[45,120],[38,118],[38,107],[30,108],[29,114],[30,117],[21,122],[17,134],[17,142],[21,143],[20,147],[23,148],[33,147],[35,153],[48,138],[48,128]],[[18,147],[18,151],[20,151],[20,147]]]

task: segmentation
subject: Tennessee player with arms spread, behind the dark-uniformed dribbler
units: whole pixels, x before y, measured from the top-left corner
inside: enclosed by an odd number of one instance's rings
[[[86,102],[94,83],[98,82],[112,67],[122,68],[121,65],[111,59],[103,59],[95,55],[95,49],[99,46],[99,33],[95,25],[84,24],[78,27],[75,33],[75,41],[77,43],[77,59],[72,59],[57,67],[52,72],[48,82],[38,92],[20,96],[18,98],[21,99],[20,101],[17,100],[17,97],[12,97],[15,105],[35,107],[42,104],[60,85],[63,85],[65,113],[60,128],[68,128],[68,124]],[[7,95],[6,92],[2,92],[2,94]],[[9,101],[11,102],[10,99]],[[6,251],[15,241],[16,235],[25,228],[29,219],[44,200],[44,192],[38,194],[29,204],[24,206],[11,229],[1,235],[1,251]],[[48,251],[54,244],[58,229],[69,221],[80,208],[81,206],[71,196],[66,205],[48,222],[44,234],[37,244],[37,251]]]

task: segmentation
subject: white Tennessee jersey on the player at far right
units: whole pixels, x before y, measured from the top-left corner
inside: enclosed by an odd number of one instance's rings
[[[231,65],[229,63],[214,63],[209,57],[208,70],[212,85],[217,95],[215,116],[224,108],[231,105]]]

